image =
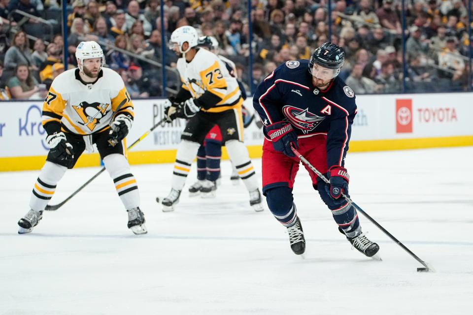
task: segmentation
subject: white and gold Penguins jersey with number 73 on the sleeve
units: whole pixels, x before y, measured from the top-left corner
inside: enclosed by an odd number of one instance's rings
[[[199,98],[207,91],[221,98],[215,106],[203,111],[222,112],[240,108],[243,104],[236,78],[230,75],[225,63],[214,53],[198,49],[190,63],[179,58],[177,70],[182,88],[189,91],[192,98]]]

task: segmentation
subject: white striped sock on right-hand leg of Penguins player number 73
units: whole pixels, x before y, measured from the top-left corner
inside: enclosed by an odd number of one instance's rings
[[[238,140],[229,140],[225,142],[228,156],[236,167],[238,176],[243,180],[248,191],[258,189],[258,181],[256,179],[255,168],[248,156],[248,150],[243,142]]]

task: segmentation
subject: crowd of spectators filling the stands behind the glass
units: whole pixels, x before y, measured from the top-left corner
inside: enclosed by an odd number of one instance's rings
[[[168,42],[176,28],[191,25],[217,39],[219,54],[236,63],[248,92],[279,64],[309,59],[326,41],[344,48],[340,77],[357,94],[472,88],[468,0],[405,0],[405,56],[401,0],[333,0],[330,16],[327,0],[249,1],[251,44],[247,1],[164,0],[162,21],[158,0],[73,0],[68,68],[76,66],[79,42],[95,40],[132,97],[160,96],[164,59],[167,88],[180,85],[172,69],[177,56],[162,34]],[[57,0],[0,0],[0,99],[41,98],[64,71],[61,18]]]

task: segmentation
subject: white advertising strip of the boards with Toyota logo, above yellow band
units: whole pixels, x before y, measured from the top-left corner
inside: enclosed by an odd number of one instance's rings
[[[473,94],[361,95],[352,129],[357,141],[472,136]],[[134,100],[135,123],[128,135],[132,143],[163,118],[165,99]],[[253,110],[251,98],[245,106]],[[0,102],[0,158],[47,154],[41,126],[42,101]],[[183,120],[163,124],[133,151],[176,149]],[[261,145],[263,135],[255,122],[245,129],[247,145]],[[373,150],[376,148],[373,147]]]

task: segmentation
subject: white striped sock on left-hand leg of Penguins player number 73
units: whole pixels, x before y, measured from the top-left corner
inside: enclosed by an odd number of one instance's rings
[[[191,164],[201,145],[197,142],[182,140],[177,147],[176,161],[172,172],[171,188],[182,190],[187,175],[191,171]]]

